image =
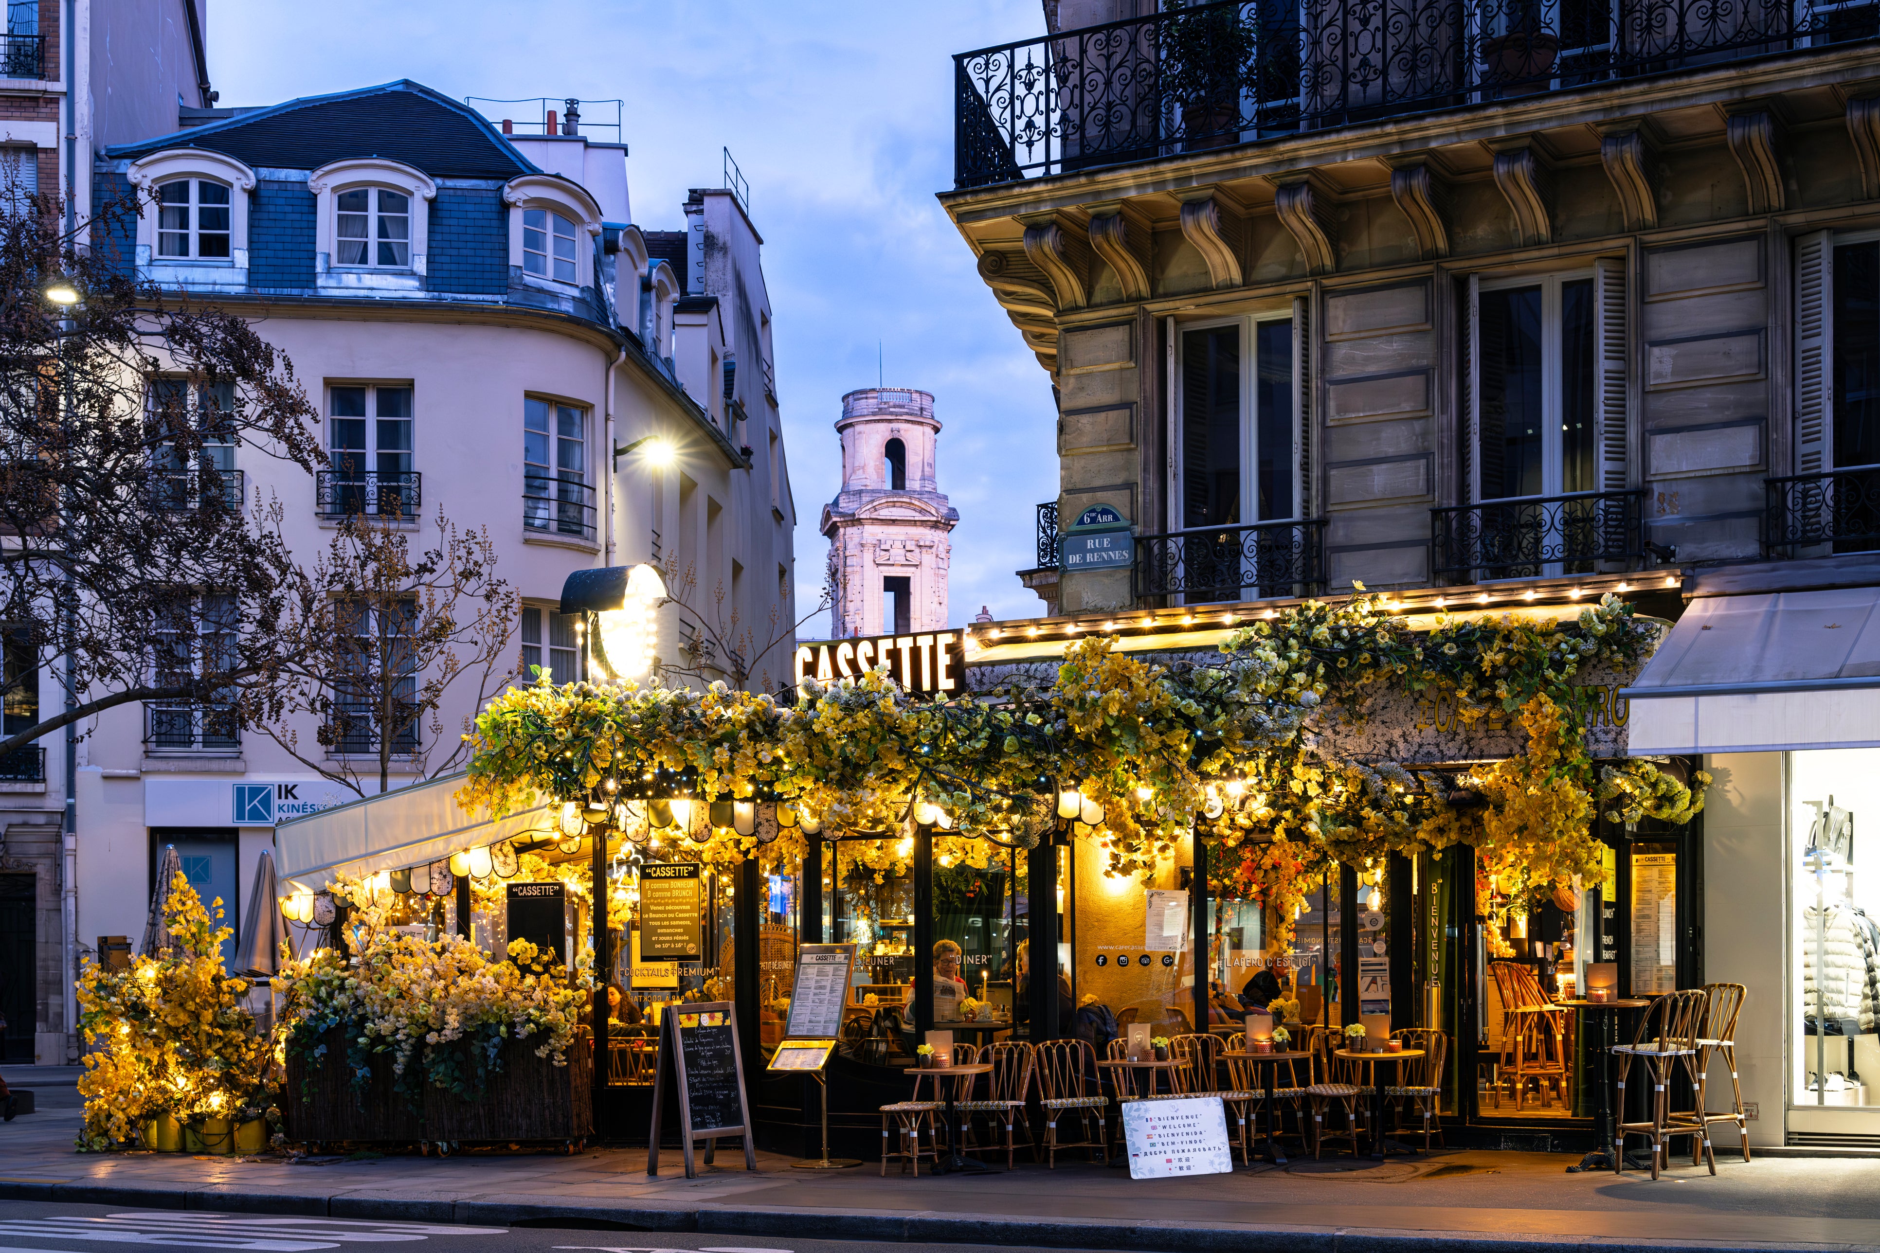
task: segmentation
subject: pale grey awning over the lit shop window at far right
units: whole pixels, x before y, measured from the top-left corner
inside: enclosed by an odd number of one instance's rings
[[[1630,753],[1880,746],[1880,588],[1698,597],[1624,695]]]

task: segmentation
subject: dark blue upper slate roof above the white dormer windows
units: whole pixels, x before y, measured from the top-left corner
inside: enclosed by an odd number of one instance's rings
[[[107,148],[105,156],[135,160],[164,148],[207,148],[250,167],[320,169],[346,158],[380,156],[432,178],[508,180],[541,173],[489,118],[410,79],[290,100]]]

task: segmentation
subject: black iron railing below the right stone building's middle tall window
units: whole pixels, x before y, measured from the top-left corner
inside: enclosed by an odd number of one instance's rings
[[[1538,579],[1632,569],[1645,556],[1645,492],[1570,492],[1431,509],[1438,580]]]

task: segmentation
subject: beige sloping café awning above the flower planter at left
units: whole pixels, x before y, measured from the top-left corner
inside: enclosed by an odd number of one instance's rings
[[[318,892],[342,874],[402,870],[555,827],[547,804],[496,821],[464,813],[451,798],[462,783],[459,770],[280,823],[274,855],[284,889]]]

